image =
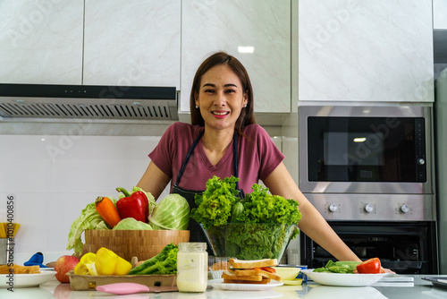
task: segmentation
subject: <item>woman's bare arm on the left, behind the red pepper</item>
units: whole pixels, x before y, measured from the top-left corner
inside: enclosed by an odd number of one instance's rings
[[[154,162],[150,161],[148,169],[139,180],[137,187],[150,192],[157,199],[170,181],[171,177],[165,175],[160,168],[156,167]]]

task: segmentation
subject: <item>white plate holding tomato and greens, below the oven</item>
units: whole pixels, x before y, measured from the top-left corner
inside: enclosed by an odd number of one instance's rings
[[[389,274],[342,274],[313,272],[313,270],[302,269],[301,272],[316,283],[326,286],[370,286]]]

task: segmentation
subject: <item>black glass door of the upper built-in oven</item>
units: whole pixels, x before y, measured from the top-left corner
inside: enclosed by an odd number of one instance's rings
[[[426,182],[423,117],[308,117],[309,182]]]

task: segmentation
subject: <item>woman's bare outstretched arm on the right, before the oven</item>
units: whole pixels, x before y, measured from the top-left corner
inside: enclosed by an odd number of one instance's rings
[[[308,199],[299,191],[283,162],[267,177],[264,184],[272,194],[299,202],[302,218],[299,229],[339,261],[361,261],[358,256],[335,234],[325,218],[315,209]]]

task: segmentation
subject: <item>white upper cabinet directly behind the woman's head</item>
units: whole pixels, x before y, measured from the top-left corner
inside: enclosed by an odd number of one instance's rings
[[[181,22],[181,112],[198,65],[217,51],[246,67],[255,111],[291,111],[291,0],[183,0]]]

